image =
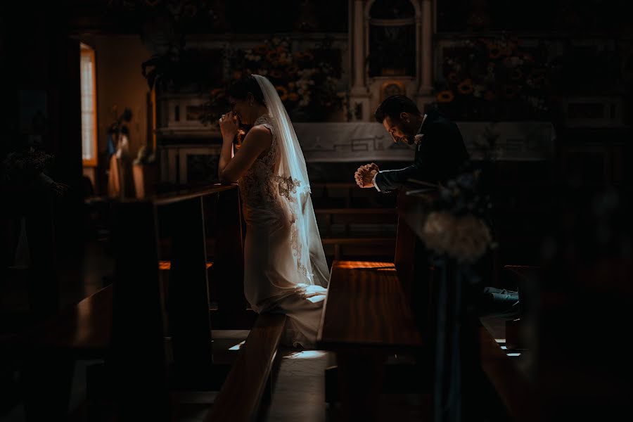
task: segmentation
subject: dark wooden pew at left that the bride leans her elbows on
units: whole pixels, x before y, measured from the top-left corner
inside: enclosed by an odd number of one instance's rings
[[[225,289],[224,314],[245,313],[241,279],[241,213],[236,186],[212,186],[115,203],[115,278],[98,291],[25,335],[29,420],[64,418],[74,359],[106,359],[110,392],[121,420],[169,420],[170,389],[219,388],[226,369],[212,364],[203,198],[215,197],[219,248],[212,266]],[[224,214],[222,214],[224,213]],[[158,279],[158,219],[174,245],[165,300]],[[186,217],[186,218],[182,218]],[[165,226],[162,226],[164,229]],[[167,321],[163,316],[167,315]],[[170,336],[172,359],[166,350]],[[42,356],[44,358],[42,358]],[[35,363],[33,363],[35,362]],[[222,379],[220,379],[222,378]],[[42,386],[47,388],[42,389]],[[143,391],[139,396],[138,392]],[[58,394],[53,394],[56,392]],[[60,397],[64,396],[64,397]],[[143,397],[150,401],[143,402]],[[50,406],[47,407],[46,404]]]

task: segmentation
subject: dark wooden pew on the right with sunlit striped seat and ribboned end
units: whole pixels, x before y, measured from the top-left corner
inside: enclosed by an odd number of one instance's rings
[[[535,420],[530,407],[534,388],[479,323],[468,305],[473,296],[460,279],[459,267],[452,260],[436,260],[429,267],[421,230],[433,198],[428,191],[400,193],[395,263],[333,265],[319,345],[337,352],[339,390],[347,402],[343,418],[360,414],[376,420],[383,415],[376,403],[387,387],[381,385],[389,372],[384,356],[389,350],[407,350],[402,344],[395,346],[399,342],[390,330],[404,327],[398,335],[418,335],[413,349],[418,350],[414,356],[423,370],[401,374],[396,381],[430,384],[429,418]],[[364,274],[363,280],[358,271],[373,274]],[[386,293],[395,286],[399,300]],[[407,323],[393,314],[394,309],[407,314]]]

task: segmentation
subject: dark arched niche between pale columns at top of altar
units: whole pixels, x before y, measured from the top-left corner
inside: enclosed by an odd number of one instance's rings
[[[416,11],[409,0],[376,0],[369,10],[369,76],[416,75]]]

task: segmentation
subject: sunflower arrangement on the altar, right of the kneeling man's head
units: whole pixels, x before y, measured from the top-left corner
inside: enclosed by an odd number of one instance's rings
[[[466,40],[445,48],[437,107],[459,120],[539,119],[548,111],[549,68],[543,47],[518,39]]]

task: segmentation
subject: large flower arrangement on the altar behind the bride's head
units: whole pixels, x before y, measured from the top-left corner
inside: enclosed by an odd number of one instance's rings
[[[332,110],[342,106],[338,95],[340,54],[325,39],[313,49],[293,51],[286,38],[274,37],[250,49],[226,52],[228,80],[210,91],[201,120],[215,122],[226,113],[226,87],[244,74],[267,77],[276,87],[279,98],[294,121],[324,120]]]

